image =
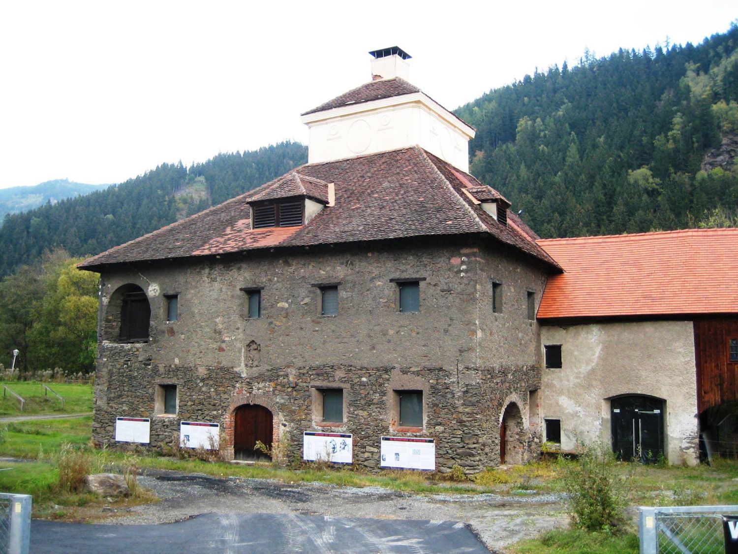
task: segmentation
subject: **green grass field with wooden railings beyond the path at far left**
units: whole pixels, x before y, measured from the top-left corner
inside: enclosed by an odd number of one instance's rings
[[[45,395],[45,389],[37,381],[7,381],[0,383],[7,385],[15,393],[26,400],[23,411],[21,404],[9,392],[0,396],[0,417],[35,415],[35,414],[79,414],[92,411],[92,385],[77,385],[71,383],[46,383],[53,391],[64,399],[61,401],[50,392]],[[1,387],[0,387],[1,388]]]

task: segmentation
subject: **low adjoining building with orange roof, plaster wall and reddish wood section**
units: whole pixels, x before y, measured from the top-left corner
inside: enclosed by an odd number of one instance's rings
[[[539,240],[545,440],[624,459],[735,454],[738,229]]]

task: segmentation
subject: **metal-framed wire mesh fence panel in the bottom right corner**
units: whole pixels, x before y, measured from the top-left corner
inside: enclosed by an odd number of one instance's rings
[[[738,506],[641,507],[641,554],[724,554],[723,516]]]

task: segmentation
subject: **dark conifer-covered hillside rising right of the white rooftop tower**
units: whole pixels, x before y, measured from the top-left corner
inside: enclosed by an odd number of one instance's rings
[[[698,46],[585,55],[495,89],[456,111],[477,128],[471,172],[544,237],[734,214],[737,168],[700,165],[738,134],[737,47],[734,25]]]

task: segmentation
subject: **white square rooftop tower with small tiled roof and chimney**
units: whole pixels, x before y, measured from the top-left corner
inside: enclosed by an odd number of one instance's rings
[[[407,81],[407,52],[369,53],[372,81],[302,115],[310,129],[308,163],[417,145],[468,172],[475,129]]]

